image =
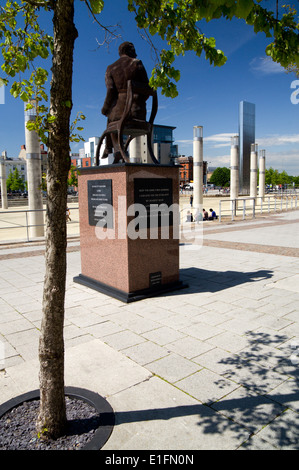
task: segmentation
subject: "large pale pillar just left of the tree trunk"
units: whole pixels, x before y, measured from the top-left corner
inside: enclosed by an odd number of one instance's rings
[[[33,103],[34,104],[34,103]],[[25,105],[26,106],[26,105]],[[39,137],[35,131],[27,129],[27,122],[36,119],[35,107],[25,111],[25,142],[27,162],[27,184],[29,212],[29,234],[31,237],[44,235],[43,197],[41,190],[42,171]]]

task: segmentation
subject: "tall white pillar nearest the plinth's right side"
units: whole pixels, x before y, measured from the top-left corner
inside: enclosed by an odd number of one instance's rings
[[[201,212],[203,205],[203,128],[193,127],[193,205]]]

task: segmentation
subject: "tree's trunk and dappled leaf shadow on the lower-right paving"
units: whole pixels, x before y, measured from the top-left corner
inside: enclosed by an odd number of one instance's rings
[[[226,359],[219,360],[227,365],[227,370],[218,376],[218,386],[224,378],[232,380],[239,386],[232,393],[211,403],[116,412],[115,425],[196,415],[203,434],[233,432],[244,449],[251,447],[255,436],[258,442],[254,445],[274,450],[299,449],[297,361],[292,360],[291,346],[275,357],[275,346],[279,349],[289,338],[252,331],[247,337],[248,347],[242,354],[228,353]],[[262,365],[258,363],[261,357]],[[180,388],[179,382],[176,386]]]

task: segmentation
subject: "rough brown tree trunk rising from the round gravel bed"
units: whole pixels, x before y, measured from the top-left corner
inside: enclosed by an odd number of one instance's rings
[[[66,424],[64,396],[64,299],[66,282],[67,177],[70,168],[70,113],[72,103],[73,50],[77,37],[74,0],[53,2],[53,39],[48,142],[46,274],[43,319],[39,343],[40,410],[37,431],[52,438]]]

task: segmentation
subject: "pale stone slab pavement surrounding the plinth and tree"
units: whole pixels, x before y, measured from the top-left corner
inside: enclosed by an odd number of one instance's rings
[[[73,283],[67,386],[107,398],[104,450],[299,448],[299,211],[205,222],[181,246],[189,287],[131,304]],[[43,246],[0,246],[0,402],[38,388]],[[0,356],[1,359],[1,356]]]

